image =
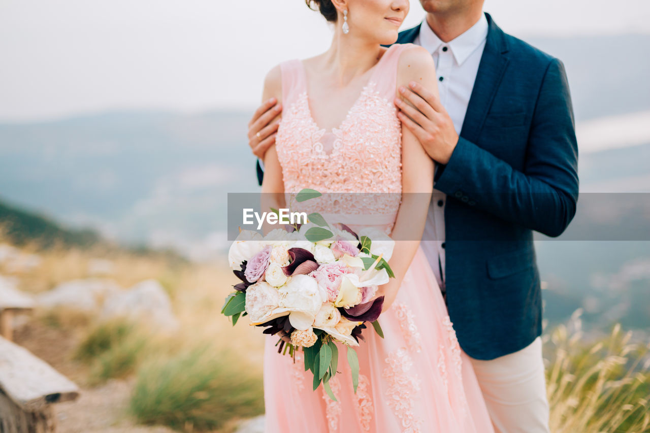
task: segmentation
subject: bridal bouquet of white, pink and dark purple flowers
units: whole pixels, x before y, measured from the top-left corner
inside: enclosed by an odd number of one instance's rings
[[[231,245],[228,259],[241,282],[226,298],[222,313],[248,316],[263,333],[283,332],[291,343],[278,341],[278,353],[294,357],[304,351],[305,371],[314,374],[313,389],[328,384],[336,374],[338,348],[347,347],[356,392],[359,362],[352,347],[363,339],[365,322],[383,337],[377,321],[383,296],[378,286],[393,276],[387,260],[394,241],[383,231],[365,228],[355,233],[344,224],[327,224],[318,213],[294,231],[275,229],[266,236],[242,230]]]

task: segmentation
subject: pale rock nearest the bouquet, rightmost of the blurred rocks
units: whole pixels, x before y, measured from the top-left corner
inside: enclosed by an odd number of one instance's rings
[[[118,316],[148,322],[154,330],[174,331],[179,326],[169,296],[153,279],[139,282],[127,291],[113,293],[106,299],[99,319]]]

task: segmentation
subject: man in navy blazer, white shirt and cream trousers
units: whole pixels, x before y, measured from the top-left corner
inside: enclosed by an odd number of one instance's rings
[[[422,249],[495,430],[549,432],[532,231],[556,237],[576,211],[564,65],[504,33],[483,0],[421,3],[426,20],[397,42],[432,53],[439,97],[415,84],[395,104],[436,162]],[[268,101],[253,115],[255,155],[274,142],[280,110]],[[259,163],[257,174],[261,183]]]

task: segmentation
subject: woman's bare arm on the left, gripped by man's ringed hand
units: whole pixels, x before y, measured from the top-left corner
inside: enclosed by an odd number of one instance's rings
[[[272,97],[282,100],[282,81],[279,66],[276,66],[264,80],[264,90],[262,100],[266,101]],[[278,118],[274,119],[275,122]],[[276,145],[273,144],[264,154],[264,180],[262,181],[262,194],[260,199],[261,211],[269,212],[272,207],[280,209],[285,206],[284,184],[282,181],[282,167],[278,161],[278,152]],[[275,227],[264,222],[262,226],[263,233],[268,233]]]

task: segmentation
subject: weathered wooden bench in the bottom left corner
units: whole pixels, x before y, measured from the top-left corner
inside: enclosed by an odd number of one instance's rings
[[[0,337],[0,432],[56,432],[51,405],[77,397],[79,388],[71,380]]]

